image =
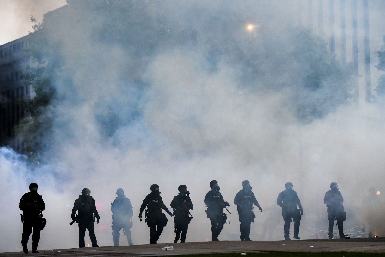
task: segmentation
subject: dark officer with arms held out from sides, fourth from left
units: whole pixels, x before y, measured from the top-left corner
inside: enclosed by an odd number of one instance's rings
[[[168,221],[161,209],[166,211],[170,216],[172,216],[172,213],[163,203],[159,186],[152,184],[150,190],[151,193],[147,194],[146,198],[144,198],[141,209],[139,210],[139,219],[142,221],[142,213],[144,208],[147,207],[146,215],[144,216],[146,217],[145,222],[147,222],[147,226],[150,227],[150,243],[157,243],[163,227],[166,227]]]

